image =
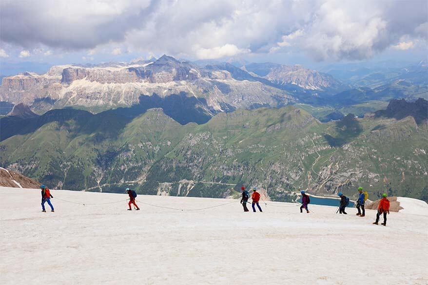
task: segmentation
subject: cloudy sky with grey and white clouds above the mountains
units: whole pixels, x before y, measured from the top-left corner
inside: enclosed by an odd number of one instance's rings
[[[426,0],[1,0],[0,61],[416,60],[427,11]]]

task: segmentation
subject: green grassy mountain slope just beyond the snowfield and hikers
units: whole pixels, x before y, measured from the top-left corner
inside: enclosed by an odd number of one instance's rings
[[[352,196],[358,186],[420,198],[428,185],[426,119],[348,115],[321,123],[287,106],[180,125],[161,109],[136,118],[60,111],[33,119],[33,128],[15,122],[15,134],[0,143],[0,164],[53,188],[182,196],[233,196],[245,184],[272,200],[289,201],[299,189]]]

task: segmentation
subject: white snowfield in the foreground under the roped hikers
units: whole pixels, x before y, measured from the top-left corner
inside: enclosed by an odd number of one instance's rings
[[[127,211],[125,194],[51,193],[55,213],[43,213],[40,190],[0,187],[1,285],[428,283],[425,215],[391,212],[383,227],[371,224],[374,210],[360,218],[311,205],[301,214],[268,202],[263,213],[244,213],[236,201],[200,211],[137,202],[140,211]],[[233,202],[137,200],[186,209]]]

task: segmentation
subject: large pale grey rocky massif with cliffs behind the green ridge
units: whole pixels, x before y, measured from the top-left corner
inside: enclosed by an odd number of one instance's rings
[[[237,71],[238,72],[237,72]],[[141,95],[186,94],[199,100],[207,114],[286,105],[287,91],[229,65],[207,68],[163,56],[154,62],[110,63],[95,66],[54,66],[46,74],[3,78],[0,101],[30,105],[33,111],[83,106],[99,112],[138,104]]]

